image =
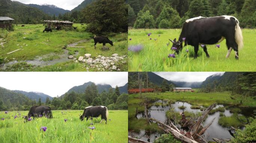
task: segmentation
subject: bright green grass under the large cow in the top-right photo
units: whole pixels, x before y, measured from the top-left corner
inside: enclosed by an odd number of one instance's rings
[[[152,35],[148,36],[150,32]],[[226,40],[219,43],[220,48],[206,45],[210,58],[199,46],[199,56],[194,59],[194,48],[190,45],[183,47],[175,58],[168,58],[174,53],[168,39],[178,39],[180,32],[181,29],[129,29],[128,46],[141,44],[143,50],[128,51],[128,71],[256,71],[256,29],[242,30],[244,48],[239,51],[239,60],[235,60],[234,50],[226,58]]]

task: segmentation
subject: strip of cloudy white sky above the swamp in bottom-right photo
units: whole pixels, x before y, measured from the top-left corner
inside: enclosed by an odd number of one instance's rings
[[[203,82],[213,74],[224,74],[225,72],[153,72],[167,80],[179,82]]]

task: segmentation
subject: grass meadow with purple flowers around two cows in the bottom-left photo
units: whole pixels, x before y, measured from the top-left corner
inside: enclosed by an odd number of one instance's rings
[[[28,111],[19,113],[26,115]],[[107,124],[100,123],[100,117],[80,121],[82,113],[82,110],[55,110],[52,119],[35,118],[24,123],[17,111],[8,114],[1,111],[0,140],[3,143],[127,143],[128,111],[110,110]],[[18,117],[14,119],[15,115]],[[94,130],[88,128],[93,126]],[[40,131],[41,127],[47,127],[46,131]]]

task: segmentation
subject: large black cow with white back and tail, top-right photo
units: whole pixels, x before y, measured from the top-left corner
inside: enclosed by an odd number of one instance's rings
[[[179,40],[170,40],[173,47],[177,48],[176,53],[182,51],[182,42],[185,41],[186,45],[192,45],[195,50],[194,58],[197,58],[199,44],[204,48],[207,57],[210,55],[204,44],[216,44],[226,39],[228,53],[226,58],[229,57],[231,50],[235,51],[235,59],[238,60],[238,50],[243,48],[243,35],[237,18],[233,16],[216,16],[210,18],[197,17],[186,20],[183,24],[182,32]],[[219,47],[219,45],[216,45]]]

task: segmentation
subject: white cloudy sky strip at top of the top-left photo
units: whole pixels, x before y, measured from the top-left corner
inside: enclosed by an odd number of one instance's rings
[[[84,0],[12,0],[19,1],[25,4],[51,4],[65,10],[72,10],[81,4]]]

